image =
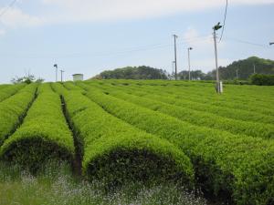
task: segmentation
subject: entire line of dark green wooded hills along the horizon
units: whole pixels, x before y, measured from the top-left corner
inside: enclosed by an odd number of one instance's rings
[[[274,75],[274,61],[257,56],[251,56],[247,59],[234,61],[227,67],[219,67],[220,78],[222,80],[248,80],[255,72],[261,75]],[[208,73],[202,70],[191,71],[191,78],[194,80],[215,80],[216,70]],[[178,73],[179,79],[188,79],[188,70]],[[92,79],[173,79],[173,74],[168,74],[165,70],[153,67],[123,67],[114,70],[101,72]]]

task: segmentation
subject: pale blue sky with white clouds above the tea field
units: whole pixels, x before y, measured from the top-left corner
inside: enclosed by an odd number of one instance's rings
[[[0,14],[11,0],[0,0]],[[274,0],[228,0],[218,44],[219,65],[248,56],[274,59]],[[53,65],[93,77],[105,69],[151,66],[172,71],[214,68],[212,26],[224,17],[222,0],[17,0],[0,16],[0,83],[30,72],[55,80]],[[219,34],[220,36],[220,34]],[[242,41],[250,42],[244,43]]]

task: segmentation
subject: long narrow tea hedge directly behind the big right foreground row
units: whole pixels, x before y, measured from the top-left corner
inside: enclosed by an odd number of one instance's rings
[[[80,84],[84,85],[84,84]],[[202,111],[195,111],[190,108],[173,106],[157,100],[152,100],[149,97],[134,96],[134,92],[131,89],[124,89],[124,92],[118,91],[117,87],[100,86],[103,91],[107,91],[111,96],[119,97],[123,100],[132,102],[136,105],[140,105],[144,108],[150,108],[155,111],[162,112],[179,118],[183,121],[189,122],[194,125],[204,126],[208,128],[216,128],[219,130],[227,130],[233,134],[248,135],[258,138],[274,138],[274,126],[265,125],[262,123],[245,122],[241,120],[235,120],[231,118],[222,118],[217,115],[206,113]],[[86,87],[90,88],[90,87]],[[132,95],[125,92],[132,93]]]

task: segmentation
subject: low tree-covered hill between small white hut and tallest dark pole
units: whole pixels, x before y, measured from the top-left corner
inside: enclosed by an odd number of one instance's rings
[[[166,71],[153,67],[123,67],[101,72],[93,79],[167,79]]]

